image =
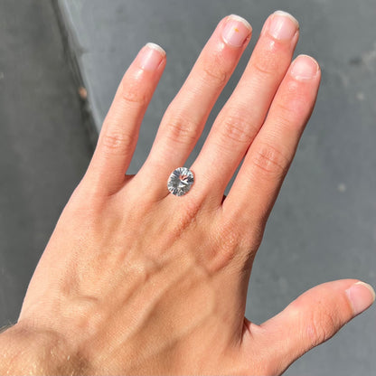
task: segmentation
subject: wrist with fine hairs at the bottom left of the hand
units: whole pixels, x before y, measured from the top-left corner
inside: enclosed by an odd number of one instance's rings
[[[15,324],[0,334],[0,374],[77,374],[83,371],[59,334]]]

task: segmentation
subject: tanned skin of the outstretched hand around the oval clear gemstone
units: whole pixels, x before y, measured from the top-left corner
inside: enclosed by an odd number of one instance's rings
[[[266,323],[244,317],[252,262],[320,82],[312,58],[291,62],[298,25],[277,39],[268,31],[274,16],[182,197],[167,191],[168,176],[193,150],[251,30],[237,46],[223,38],[229,17],[221,20],[167,108],[146,163],[130,176],[138,128],[165,65],[163,52],[139,52],[19,320],[0,335],[1,373],[281,374],[371,305],[369,287],[343,279],[307,291]],[[154,68],[147,53],[160,53]]]

